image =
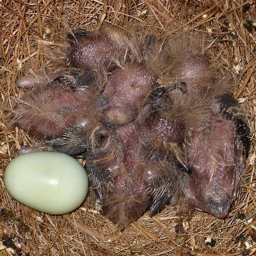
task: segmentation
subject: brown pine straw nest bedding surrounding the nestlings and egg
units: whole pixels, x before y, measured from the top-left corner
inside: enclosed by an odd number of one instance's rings
[[[256,33],[250,22],[256,22],[255,8],[252,0],[1,1],[0,255],[256,255]],[[186,207],[166,207],[122,230],[94,211],[88,200],[77,211],[51,216],[6,193],[6,164],[20,146],[33,143],[8,123],[13,99],[24,95],[15,80],[29,68],[36,72],[51,64],[41,54],[39,40],[59,42],[70,28],[91,30],[106,23],[121,28],[140,23],[159,36],[184,28],[211,36],[207,54],[234,76],[233,93],[248,109],[252,137],[243,186],[225,220]],[[207,245],[206,237],[216,244]]]

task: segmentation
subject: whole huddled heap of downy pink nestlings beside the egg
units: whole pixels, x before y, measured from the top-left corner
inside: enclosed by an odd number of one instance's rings
[[[101,212],[114,223],[126,227],[184,198],[225,218],[250,131],[228,77],[198,38],[75,29],[67,67],[17,81],[34,88],[15,106],[13,122],[50,150],[83,157]],[[39,148],[21,152],[28,150]]]

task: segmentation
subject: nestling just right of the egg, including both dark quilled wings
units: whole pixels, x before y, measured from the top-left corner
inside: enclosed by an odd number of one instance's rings
[[[155,214],[175,196],[177,166],[163,152],[145,154],[134,123],[106,132],[106,143],[86,157],[89,180],[102,204],[102,214],[127,227],[150,207]],[[164,180],[164,183],[163,183]],[[165,183],[166,182],[166,183]]]

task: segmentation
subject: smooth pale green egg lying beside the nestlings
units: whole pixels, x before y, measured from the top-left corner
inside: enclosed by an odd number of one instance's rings
[[[73,157],[32,152],[8,164],[4,186],[13,198],[37,211],[65,214],[82,204],[88,192],[88,177]]]

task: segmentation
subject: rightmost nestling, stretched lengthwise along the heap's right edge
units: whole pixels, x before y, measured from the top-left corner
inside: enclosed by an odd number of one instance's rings
[[[192,173],[183,173],[181,188],[190,207],[225,218],[236,199],[250,145],[243,111],[225,93],[226,84],[210,71],[204,55],[186,54],[173,64],[172,72],[186,84],[184,104],[188,100],[193,111],[198,101],[203,103],[204,118],[186,123],[184,152]]]

